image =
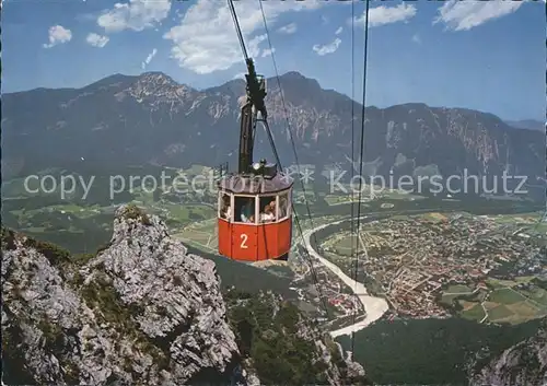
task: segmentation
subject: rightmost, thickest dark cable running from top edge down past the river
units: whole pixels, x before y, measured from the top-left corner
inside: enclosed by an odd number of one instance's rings
[[[364,10],[364,52],[363,52],[363,97],[361,105],[361,144],[359,149],[359,194],[358,194],[358,203],[357,203],[357,235],[360,237],[361,235],[361,195],[362,195],[362,174],[363,174],[363,162],[364,162],[364,128],[366,124],[365,119],[365,103],[366,103],[366,59],[369,51],[369,9],[370,9],[370,0],[366,0],[365,10]],[[354,281],[357,282],[359,271],[359,243],[356,245],[356,266]],[[366,312],[366,311],[365,311]],[[354,352],[354,343],[356,343],[356,332],[351,331],[351,353]]]

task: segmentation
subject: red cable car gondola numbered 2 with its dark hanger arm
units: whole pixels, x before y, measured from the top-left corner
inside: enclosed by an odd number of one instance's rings
[[[247,59],[247,101],[242,107],[238,173],[219,182],[219,254],[240,261],[287,260],[292,241],[292,185],[278,165],[253,163],[257,113],[267,117],[266,82]]]

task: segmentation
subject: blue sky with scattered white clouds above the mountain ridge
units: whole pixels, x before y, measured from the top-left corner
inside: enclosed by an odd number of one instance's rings
[[[263,5],[280,74],[299,71],[361,100],[364,1],[353,3],[353,91],[349,1]],[[5,0],[2,7],[2,92],[80,87],[146,71],[202,89],[245,71],[223,0]],[[235,7],[258,72],[274,75],[258,0]],[[423,102],[545,120],[544,1],[371,1],[370,23],[366,105]]]

